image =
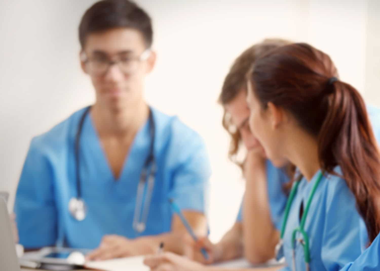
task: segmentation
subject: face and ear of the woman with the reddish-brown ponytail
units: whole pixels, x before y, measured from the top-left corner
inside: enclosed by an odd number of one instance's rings
[[[247,83],[247,89],[247,104],[250,109],[249,126],[253,137],[263,146],[264,153],[275,166],[283,166],[287,159],[283,155],[283,135],[278,128],[282,121],[281,110],[272,103],[263,109],[250,82]]]

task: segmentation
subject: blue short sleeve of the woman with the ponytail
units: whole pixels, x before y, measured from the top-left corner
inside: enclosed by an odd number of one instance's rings
[[[328,187],[322,236],[322,261],[327,271],[339,270],[361,254],[361,217],[344,180]]]

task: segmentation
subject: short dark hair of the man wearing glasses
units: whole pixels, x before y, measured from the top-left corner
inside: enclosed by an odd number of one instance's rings
[[[136,29],[141,32],[146,47],[152,45],[152,22],[142,8],[128,0],[103,0],[93,4],[82,17],[79,24],[79,42],[82,49],[89,34],[112,28]]]

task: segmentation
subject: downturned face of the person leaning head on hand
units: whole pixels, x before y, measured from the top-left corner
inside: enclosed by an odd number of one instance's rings
[[[242,141],[249,151],[259,152],[265,156],[263,147],[258,140],[253,136],[249,128],[249,107],[247,105],[247,92],[245,89],[241,89],[239,94],[228,104],[225,105],[225,109],[231,115],[233,124],[242,137]]]

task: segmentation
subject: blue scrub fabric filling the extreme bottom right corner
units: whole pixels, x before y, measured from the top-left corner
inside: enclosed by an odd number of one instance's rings
[[[380,234],[377,235],[375,240],[355,260],[355,262],[348,263],[340,271],[379,271],[380,270]]]

